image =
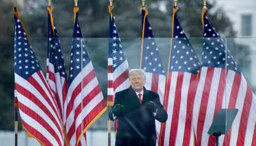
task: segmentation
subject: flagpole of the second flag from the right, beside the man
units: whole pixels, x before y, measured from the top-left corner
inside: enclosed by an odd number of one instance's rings
[[[178,0],[173,0],[173,2],[174,2],[174,7],[173,7],[173,17],[172,17],[172,27],[171,27],[171,46],[170,46],[170,52],[169,52],[169,56],[168,56],[168,68],[167,68],[167,77],[166,77],[166,82],[165,82],[165,93],[164,93],[164,108],[165,108],[165,110],[167,110],[167,87],[168,87],[168,78],[169,78],[169,69],[170,69],[170,61],[171,61],[171,49],[172,49],[172,46],[173,46],[173,33],[174,33],[174,29],[173,29],[173,27],[174,27],[174,19],[175,19],[175,14],[176,14],[176,11],[177,11],[177,9],[178,9],[178,7],[177,7],[177,1]],[[160,128],[160,134],[162,133],[162,131],[164,130],[164,129],[162,129],[162,128],[164,128],[162,125],[163,124],[165,124],[165,123],[162,123],[161,124],[161,128]],[[161,141],[162,141],[162,137],[161,136],[159,136],[159,146],[162,146],[163,144],[161,144]]]

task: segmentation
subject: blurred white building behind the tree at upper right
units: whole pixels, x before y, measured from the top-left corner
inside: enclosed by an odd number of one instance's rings
[[[255,0],[209,0],[214,3],[217,10],[224,10],[228,18],[232,21],[233,29],[236,31],[234,40],[241,45],[236,49],[235,58],[242,68],[247,81],[256,92],[256,1]],[[229,48],[232,50],[233,48]]]

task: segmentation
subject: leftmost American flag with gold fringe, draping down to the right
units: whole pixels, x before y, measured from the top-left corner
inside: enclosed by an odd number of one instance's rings
[[[61,115],[14,10],[15,89],[23,127],[43,145],[64,145]]]

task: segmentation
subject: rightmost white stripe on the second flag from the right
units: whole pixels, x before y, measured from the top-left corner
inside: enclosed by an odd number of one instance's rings
[[[175,145],[183,145],[185,124],[186,124],[186,114],[187,114],[187,95],[189,92],[190,77],[191,77],[191,74],[189,72],[184,72],[183,83],[181,86],[181,105],[179,109],[177,109],[179,110],[179,119],[178,119],[178,128],[177,128]]]

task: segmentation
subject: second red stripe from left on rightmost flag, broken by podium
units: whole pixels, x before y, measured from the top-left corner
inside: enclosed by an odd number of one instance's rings
[[[222,106],[222,101],[224,98],[224,89],[225,89],[225,69],[221,69],[220,72],[220,79],[219,79],[219,85],[218,85],[218,89],[217,89],[217,97],[216,97],[216,104],[215,104],[215,108],[214,108],[214,116],[216,116],[217,111],[219,111],[219,109],[221,109]],[[215,145],[216,144],[216,138],[215,136],[209,135],[209,139],[208,139],[208,146],[209,145]]]

